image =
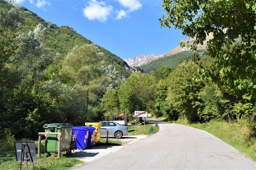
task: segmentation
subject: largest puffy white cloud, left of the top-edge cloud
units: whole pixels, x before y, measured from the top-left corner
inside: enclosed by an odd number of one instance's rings
[[[91,0],[88,6],[83,9],[83,15],[89,20],[97,19],[100,22],[108,20],[108,16],[112,13],[113,7],[106,6],[105,2],[97,2],[96,0]]]

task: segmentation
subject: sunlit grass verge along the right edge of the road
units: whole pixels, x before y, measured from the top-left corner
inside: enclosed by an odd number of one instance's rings
[[[214,119],[203,124],[188,124],[186,119],[178,119],[173,123],[204,130],[230,144],[245,156],[256,161],[256,137],[246,128],[246,126]]]

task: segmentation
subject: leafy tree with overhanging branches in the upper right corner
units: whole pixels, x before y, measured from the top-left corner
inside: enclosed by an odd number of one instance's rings
[[[181,29],[184,35],[196,38],[187,44],[191,50],[203,44],[206,36],[213,34],[207,43],[208,55],[216,65],[207,72],[212,80],[225,80],[229,92],[240,90],[256,98],[256,3],[251,0],[192,1],[163,0],[166,15],[161,27]],[[185,43],[181,42],[181,46]],[[225,46],[225,48],[223,48]],[[204,70],[202,75],[205,75]],[[241,95],[241,94],[239,94]],[[252,102],[251,101],[251,102]]]

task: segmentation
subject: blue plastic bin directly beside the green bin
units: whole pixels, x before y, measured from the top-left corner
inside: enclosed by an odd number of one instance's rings
[[[76,149],[77,150],[85,150],[88,144],[89,130],[86,126],[72,127],[72,133],[76,136]]]

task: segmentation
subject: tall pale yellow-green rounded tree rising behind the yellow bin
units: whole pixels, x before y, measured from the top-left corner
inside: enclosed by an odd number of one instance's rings
[[[103,97],[107,78],[103,75],[103,54],[99,52],[96,44],[75,46],[63,60],[61,76],[78,90],[86,100],[83,121],[87,120],[90,111],[93,111],[95,102]],[[95,110],[94,110],[95,111]]]

